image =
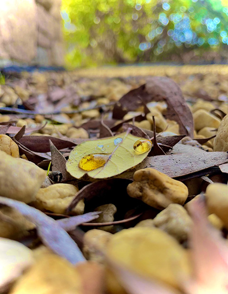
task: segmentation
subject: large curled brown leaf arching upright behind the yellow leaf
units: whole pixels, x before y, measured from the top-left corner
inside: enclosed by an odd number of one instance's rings
[[[184,100],[180,88],[168,77],[154,76],[145,85],[131,90],[116,102],[113,118],[122,119],[128,111],[133,111],[142,105],[139,97],[146,103],[155,100],[165,100],[167,103],[167,118],[179,124],[181,134],[193,137],[194,123],[192,113]]]

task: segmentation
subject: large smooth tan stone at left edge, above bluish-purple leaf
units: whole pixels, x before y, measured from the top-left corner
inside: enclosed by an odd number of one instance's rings
[[[0,196],[29,203],[45,177],[46,172],[34,163],[0,151]]]

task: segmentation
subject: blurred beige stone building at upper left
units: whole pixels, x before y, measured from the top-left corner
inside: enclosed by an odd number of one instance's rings
[[[64,64],[61,0],[0,0],[0,66]]]

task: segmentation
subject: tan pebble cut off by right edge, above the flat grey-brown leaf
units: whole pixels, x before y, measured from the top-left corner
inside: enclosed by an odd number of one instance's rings
[[[214,140],[214,151],[228,151],[228,115],[222,120]]]

